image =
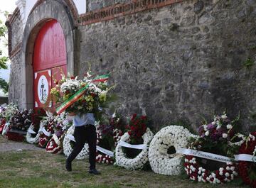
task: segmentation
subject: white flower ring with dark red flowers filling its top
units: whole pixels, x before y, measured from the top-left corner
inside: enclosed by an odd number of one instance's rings
[[[115,149],[115,157],[116,162],[115,165],[118,165],[120,167],[124,167],[128,170],[140,170],[143,168],[143,166],[146,164],[146,162],[149,160],[148,153],[149,153],[149,143],[152,140],[154,134],[150,131],[149,128],[146,128],[146,133],[142,136],[144,140],[144,144],[146,145],[146,148],[142,150],[137,157],[133,159],[129,159],[126,157],[126,154],[122,151],[122,146],[117,144],[117,148]],[[128,133],[124,133],[124,135],[121,137],[120,141],[124,141],[126,143],[129,143],[130,138]]]

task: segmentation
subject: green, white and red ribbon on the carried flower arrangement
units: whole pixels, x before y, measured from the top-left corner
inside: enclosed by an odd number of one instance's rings
[[[109,79],[110,75],[105,74],[105,75],[100,75],[92,79],[91,82],[105,82],[107,79]],[[89,87],[90,83],[88,83],[85,87],[82,87],[82,89],[79,89],[78,92],[73,94],[73,96],[70,96],[68,100],[66,100],[63,104],[61,104],[58,109],[56,109],[57,114],[61,114],[65,109],[68,108],[68,106],[72,105],[75,103],[75,101],[78,101],[80,97],[85,94],[87,87]]]

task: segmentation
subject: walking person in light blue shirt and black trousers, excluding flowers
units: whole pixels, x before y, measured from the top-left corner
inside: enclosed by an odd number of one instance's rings
[[[85,145],[85,141],[89,145],[89,162],[90,170],[89,173],[94,175],[100,175],[100,172],[95,168],[96,161],[96,142],[97,134],[95,128],[95,116],[92,113],[87,114],[74,114],[70,113],[70,116],[74,116],[73,125],[75,126],[75,147],[66,160],[66,170],[72,171],[71,162],[80,153]]]

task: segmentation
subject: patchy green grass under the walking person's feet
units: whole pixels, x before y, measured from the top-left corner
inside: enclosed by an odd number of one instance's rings
[[[90,166],[88,160],[74,160],[72,165],[73,172],[67,172],[64,155],[52,155],[44,150],[0,153],[0,188],[215,187],[192,183],[186,177],[158,175],[152,171],[130,171],[105,164],[97,164],[102,175],[95,176],[87,172]],[[226,184],[221,187],[239,186]]]

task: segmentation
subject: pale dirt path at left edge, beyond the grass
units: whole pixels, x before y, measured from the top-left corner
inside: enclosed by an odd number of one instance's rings
[[[36,147],[36,145],[29,143],[18,143],[11,140],[7,140],[0,135],[0,152],[6,151],[21,151],[21,150],[43,150],[42,148]]]

